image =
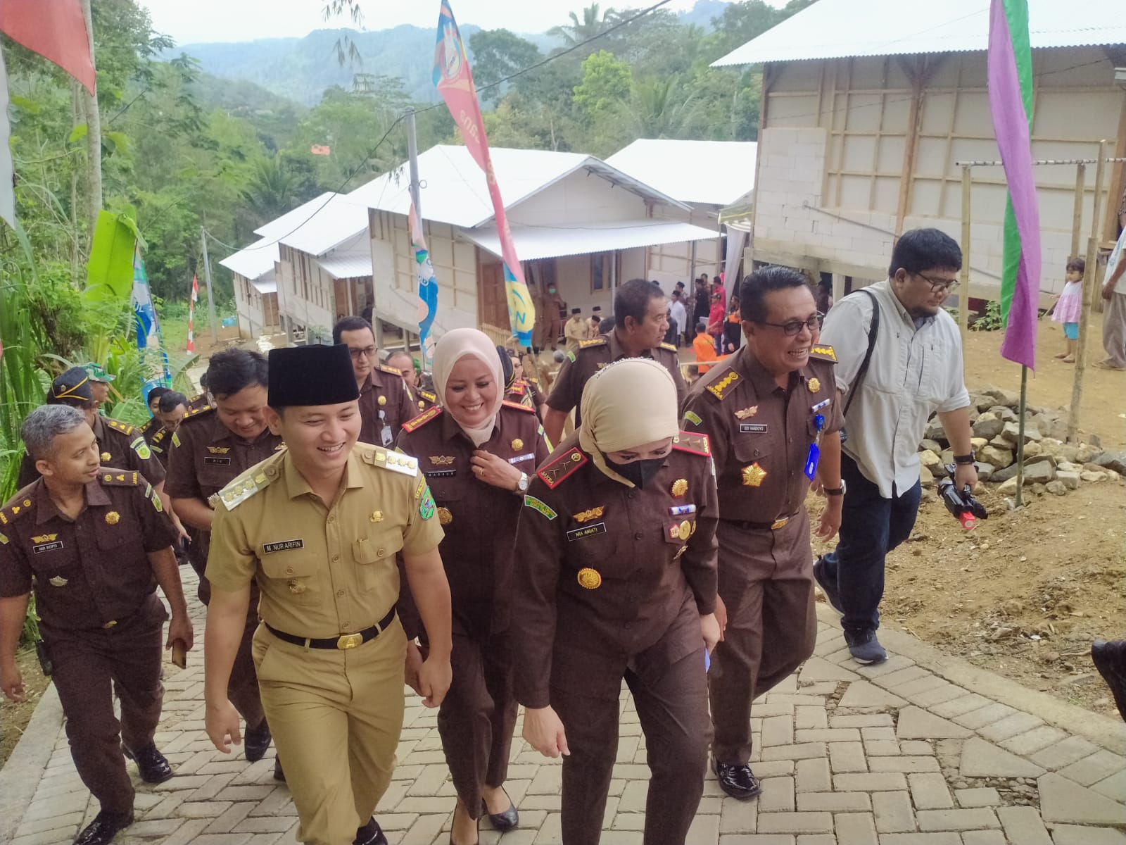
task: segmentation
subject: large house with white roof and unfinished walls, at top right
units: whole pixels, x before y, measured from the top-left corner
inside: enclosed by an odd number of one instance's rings
[[[1120,0],[1029,0],[1034,159],[1126,155],[1126,17]],[[1000,158],[986,91],[989,0],[819,0],[714,65],[762,64],[751,256],[879,279],[895,239],[935,226],[962,241],[962,161]],[[1035,169],[1045,296],[1072,249],[1076,168]],[[1120,162],[1097,221],[1118,233]],[[995,297],[1006,205],[1000,167],[972,170],[971,295]],[[1094,207],[1085,172],[1082,254]]]

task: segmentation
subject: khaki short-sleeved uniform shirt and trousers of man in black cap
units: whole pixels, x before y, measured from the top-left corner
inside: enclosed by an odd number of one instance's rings
[[[391,782],[403,722],[406,638],[388,614],[399,596],[395,553],[441,542],[418,462],[357,444],[331,502],[282,451],[220,493],[207,578],[261,590],[253,656],[262,705],[285,760],[306,843],[350,843]],[[391,620],[360,642],[358,632]],[[270,632],[337,638],[305,649]]]

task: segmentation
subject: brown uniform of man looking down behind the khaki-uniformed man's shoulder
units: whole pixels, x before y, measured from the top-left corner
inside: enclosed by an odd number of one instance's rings
[[[160,448],[158,444],[154,448]],[[218,501],[218,492],[235,477],[254,464],[265,461],[283,448],[282,437],[263,429],[253,441],[244,441],[223,425],[213,404],[188,411],[180,427],[168,436],[168,481],[164,492],[177,499],[203,499],[212,508]],[[211,532],[195,526],[185,526],[191,543],[188,545],[188,561],[199,575],[199,601],[205,605],[211,599],[211,584],[204,571],[207,567],[207,550],[211,548]],[[226,695],[234,709],[250,728],[262,721],[262,702],[258,693],[258,676],[251,656],[254,631],[258,629],[258,588],[250,588],[250,607],[247,610],[247,625],[242,641],[234,656]]]

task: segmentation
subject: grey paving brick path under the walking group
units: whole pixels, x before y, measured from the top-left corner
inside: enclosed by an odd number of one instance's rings
[[[194,576],[181,573],[194,595]],[[194,610],[202,644],[203,608]],[[756,704],[753,767],[762,795],[735,801],[709,777],[690,845],[1126,845],[1124,726],[1045,704],[1037,693],[964,665],[962,677],[972,683],[951,683],[958,671],[926,668],[935,660],[906,656],[930,653],[926,647],[892,637],[888,644],[900,648],[886,664],[858,667],[832,619],[823,617],[816,656]],[[117,842],[296,842],[289,793],[271,777],[272,749],[248,764],[241,753],[217,753],[204,735],[199,650],[186,670],[167,667],[166,687],[157,742],[176,777],[138,784],[137,821]],[[410,691],[404,723],[399,767],[377,818],[393,844],[446,843],[454,789],[435,712]],[[19,764],[28,756],[20,750],[35,749],[18,749],[14,763],[35,771],[9,765],[0,773],[0,788],[18,779],[29,795],[8,820],[12,845],[69,845],[97,810],[57,720],[47,729],[54,749],[41,755],[44,766]],[[620,735],[602,843],[641,845],[649,770],[626,694]],[[27,741],[35,738],[29,731]],[[560,772],[518,738],[508,790],[520,829],[500,837],[485,822],[481,842],[560,843]]]

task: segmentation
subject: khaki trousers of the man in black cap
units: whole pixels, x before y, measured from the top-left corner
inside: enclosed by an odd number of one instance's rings
[[[297,838],[351,845],[391,782],[403,727],[406,637],[397,619],[354,649],[305,649],[265,625],[253,658],[297,807]]]

